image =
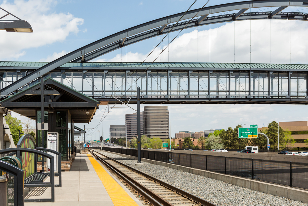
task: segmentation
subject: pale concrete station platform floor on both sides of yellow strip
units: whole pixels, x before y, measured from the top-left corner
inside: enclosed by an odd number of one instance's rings
[[[108,172],[109,173],[109,172]],[[111,175],[109,173],[109,175]],[[113,179],[115,177],[111,175]],[[59,182],[55,178],[55,183]],[[115,179],[138,204],[143,205],[122,183]],[[47,181],[49,181],[47,179]],[[34,188],[26,199],[50,198],[50,188]],[[55,202],[25,203],[26,206],[113,206],[103,183],[96,174],[87,154],[77,154],[69,172],[62,172],[62,187],[55,187]]]

